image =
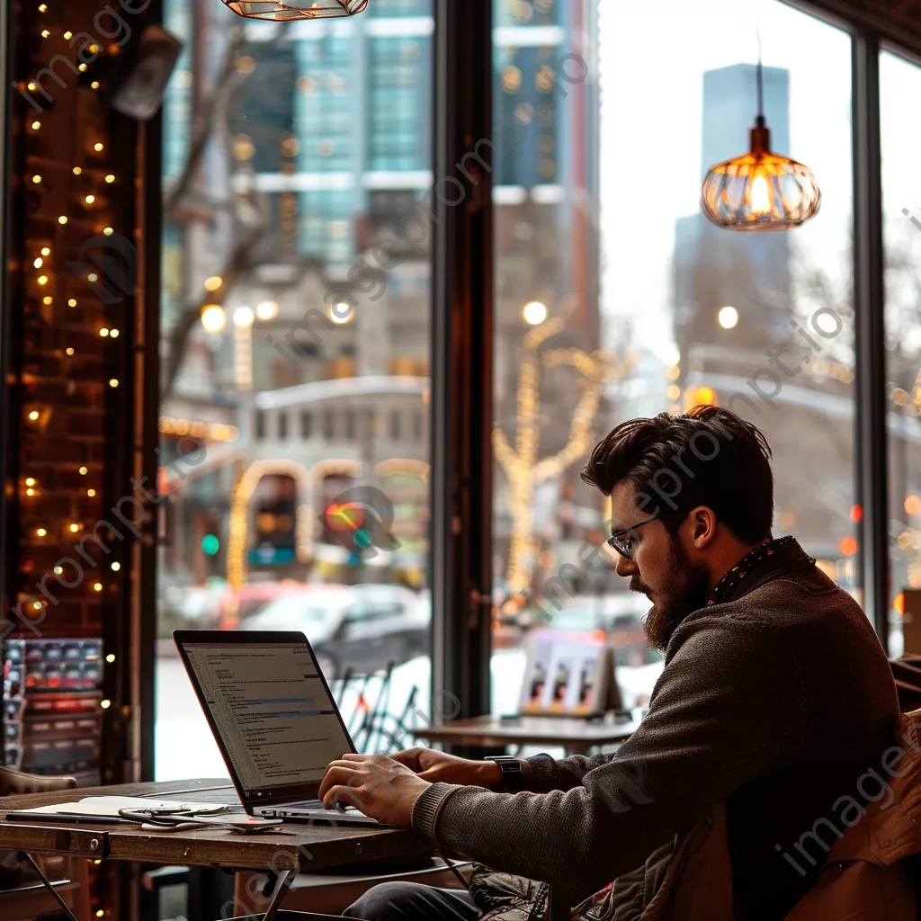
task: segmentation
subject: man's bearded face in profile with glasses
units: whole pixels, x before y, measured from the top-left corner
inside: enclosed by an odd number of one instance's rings
[[[705,565],[688,558],[682,528],[670,534],[655,519],[656,504],[635,501],[635,492],[633,484],[620,483],[611,494],[612,530],[634,526],[631,558],[617,554],[616,572],[629,577],[630,589],[642,592],[652,602],[646,635],[650,646],[664,650],[678,624],[705,606],[709,575]]]

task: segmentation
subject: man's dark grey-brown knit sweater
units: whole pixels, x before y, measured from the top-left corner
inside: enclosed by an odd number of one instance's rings
[[[434,784],[414,828],[490,867],[565,886],[573,904],[618,878],[606,914],[620,921],[658,888],[674,836],[725,800],[737,915],[782,918],[824,857],[801,836],[834,820],[838,797],[859,798],[898,704],[857,603],[799,543],[771,547],[676,629],[647,717],[616,754],[530,758],[532,792]]]

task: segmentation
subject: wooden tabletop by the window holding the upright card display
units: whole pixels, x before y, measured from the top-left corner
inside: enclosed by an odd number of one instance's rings
[[[639,726],[635,720],[589,722],[578,717],[472,717],[441,726],[410,729],[416,739],[449,745],[545,745],[585,754],[600,745],[629,739]]]

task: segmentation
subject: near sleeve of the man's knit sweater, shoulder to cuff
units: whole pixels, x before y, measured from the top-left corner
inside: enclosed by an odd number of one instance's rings
[[[581,785],[502,794],[435,784],[416,803],[414,828],[455,853],[584,897],[799,744],[799,670],[775,628],[724,615],[679,630],[647,716],[616,754],[582,765]]]

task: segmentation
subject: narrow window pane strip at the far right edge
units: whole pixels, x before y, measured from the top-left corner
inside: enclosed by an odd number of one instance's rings
[[[921,201],[915,180],[921,125],[904,117],[905,101],[916,99],[919,91],[921,67],[888,52],[880,55],[891,656],[902,655],[903,648],[921,651],[907,628],[921,612],[909,600],[906,613],[904,596],[904,589],[921,589]]]

